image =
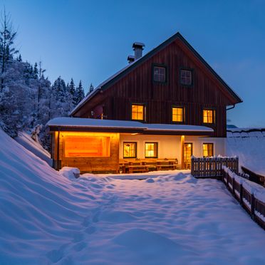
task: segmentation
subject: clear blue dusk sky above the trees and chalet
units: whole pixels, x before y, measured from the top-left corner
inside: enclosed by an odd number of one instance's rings
[[[243,98],[229,110],[240,127],[265,126],[265,1],[0,0],[19,31],[22,58],[94,86],[127,65],[134,41],[145,52],[177,31]]]

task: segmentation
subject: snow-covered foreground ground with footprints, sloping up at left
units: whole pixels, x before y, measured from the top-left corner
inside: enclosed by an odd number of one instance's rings
[[[1,130],[0,142],[0,264],[265,263],[264,230],[222,182],[177,171],[76,180]]]

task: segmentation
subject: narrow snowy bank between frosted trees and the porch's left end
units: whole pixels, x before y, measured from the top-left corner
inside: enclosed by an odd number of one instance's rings
[[[19,132],[19,135],[15,138],[16,142],[19,142],[27,150],[33,152],[34,155],[40,157],[42,160],[46,161],[48,165],[53,165],[53,160],[51,160],[50,153],[45,150],[38,142],[34,141],[30,135],[26,132]]]

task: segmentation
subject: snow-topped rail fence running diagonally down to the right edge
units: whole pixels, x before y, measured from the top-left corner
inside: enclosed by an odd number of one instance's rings
[[[222,180],[227,189],[246,209],[252,219],[265,229],[265,189],[248,180],[247,174],[235,173],[228,167],[222,167]]]

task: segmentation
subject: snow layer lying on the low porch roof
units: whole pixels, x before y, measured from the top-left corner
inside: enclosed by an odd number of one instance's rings
[[[197,125],[173,125],[173,124],[148,124],[129,120],[99,120],[89,118],[54,118],[47,123],[48,126],[83,127],[83,128],[128,128],[147,131],[189,131],[189,132],[213,132],[212,128]]]

